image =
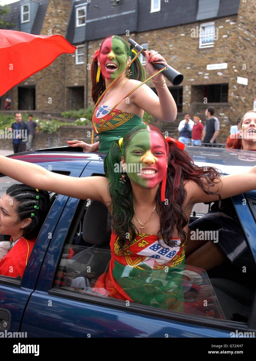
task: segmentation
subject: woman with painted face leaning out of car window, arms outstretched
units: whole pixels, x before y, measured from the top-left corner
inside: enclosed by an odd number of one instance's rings
[[[117,170],[120,162],[123,169]],[[138,172],[138,168],[142,170]],[[76,178],[0,156],[0,172],[9,177],[31,187],[98,200],[108,207],[112,214],[111,262],[108,272],[97,280],[97,289],[105,288],[109,297],[136,302],[147,299],[149,304],[157,302],[160,307],[182,312],[182,270],[194,204],[254,190],[256,166],[242,174],[220,177],[212,167],[206,171],[194,165],[176,139],[165,139],[156,127],[141,125],[113,142],[104,169],[106,177]],[[137,287],[130,279],[131,270]],[[157,292],[148,280],[163,277],[166,290]]]

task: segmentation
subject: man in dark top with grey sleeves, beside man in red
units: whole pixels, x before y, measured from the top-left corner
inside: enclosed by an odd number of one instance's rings
[[[207,117],[205,128],[202,132],[202,143],[211,143],[205,144],[206,147],[213,147],[217,143],[217,136],[220,132],[220,122],[219,119],[214,117],[214,108],[207,108],[205,111]]]

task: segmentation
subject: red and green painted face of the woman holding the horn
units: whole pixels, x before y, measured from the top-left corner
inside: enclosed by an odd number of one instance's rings
[[[101,46],[99,64],[106,79],[115,79],[127,65],[125,45],[114,35],[107,38]]]

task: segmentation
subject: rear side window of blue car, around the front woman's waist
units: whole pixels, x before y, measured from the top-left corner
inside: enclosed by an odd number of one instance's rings
[[[69,236],[65,241],[57,267],[54,288],[63,291],[69,290],[73,294],[79,294],[80,297],[84,295],[85,298],[86,295],[103,297],[109,299],[110,304],[111,300],[115,299],[120,302],[130,302],[130,304],[133,302],[143,304],[149,308],[154,307],[207,318],[244,323],[248,321],[255,290],[255,280],[252,277],[255,272],[255,261],[251,253],[247,252],[246,237],[239,220],[232,218],[235,217],[235,211],[230,202],[222,205],[223,208],[220,209],[221,212],[218,211],[217,216],[216,204],[213,204],[212,212],[206,212],[205,216],[200,215],[190,219],[191,225],[197,219],[201,220],[201,229],[191,226],[196,242],[201,240],[199,232],[203,231],[204,234],[210,236],[211,244],[218,247],[216,248],[217,252],[219,252],[219,248],[220,250],[224,249],[223,247],[228,243],[226,251],[229,257],[234,253],[233,239],[226,238],[226,234],[232,228],[234,232],[240,232],[242,246],[241,244],[238,246],[243,248],[242,251],[233,255],[232,262],[225,256],[225,261],[220,264],[218,264],[219,259],[213,253],[213,257],[216,258],[215,263],[206,264],[207,269],[196,266],[196,262],[179,264],[177,261],[175,263],[176,259],[178,260],[175,256],[176,245],[162,247],[157,242],[147,245],[147,239],[141,239],[138,243],[138,247],[141,247],[142,250],[144,247],[145,249],[147,246],[151,247],[151,249],[147,249],[149,253],[145,251],[140,253],[140,260],[132,257],[132,246],[121,252],[116,243],[112,244],[112,252],[122,253],[125,258],[125,262],[118,264],[111,258],[109,244],[111,216],[108,214],[107,208],[103,212],[105,207],[103,204],[99,209],[96,207],[95,210],[94,202],[87,204],[80,214],[73,217],[75,223],[71,224],[70,229],[73,229],[75,234],[73,232],[73,236]],[[96,202],[100,204],[100,202]],[[211,218],[212,214],[215,214],[214,218]],[[234,228],[234,223],[236,228]],[[215,237],[218,234],[216,227],[225,230],[225,232],[219,232],[218,239]],[[237,235],[237,233],[235,234]],[[215,242],[216,240],[217,242]],[[208,242],[207,239],[206,241]],[[217,243],[219,244],[217,245]],[[187,248],[189,248],[188,244]],[[173,258],[172,267],[165,268],[164,263],[157,263],[159,262],[159,252],[166,255],[166,260],[168,257],[171,260]],[[187,259],[189,260],[189,257]],[[244,262],[254,271],[243,273]],[[109,273],[110,270],[111,273]]]

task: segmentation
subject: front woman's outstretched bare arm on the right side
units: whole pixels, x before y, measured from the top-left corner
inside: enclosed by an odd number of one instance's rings
[[[256,166],[252,169],[238,174],[224,175],[216,179],[214,186],[206,185],[208,191],[218,192],[222,199],[236,196],[243,192],[248,192],[256,189]],[[202,203],[214,202],[219,199],[217,195],[206,194],[196,182],[189,181],[185,186],[188,192],[188,202]]]

